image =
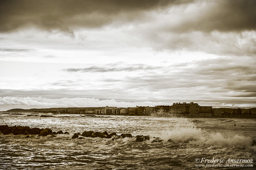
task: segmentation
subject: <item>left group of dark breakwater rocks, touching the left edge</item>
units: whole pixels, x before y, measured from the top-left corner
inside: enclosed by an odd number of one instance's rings
[[[56,134],[63,134],[62,131],[53,132],[49,128],[30,128],[29,126],[8,126],[8,125],[0,125],[0,132],[3,135],[13,134],[13,135],[39,135],[39,136],[47,136],[47,135],[56,135]],[[64,134],[69,134],[65,132]]]

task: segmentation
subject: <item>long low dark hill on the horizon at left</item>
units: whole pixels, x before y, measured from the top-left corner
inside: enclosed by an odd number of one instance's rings
[[[65,109],[93,110],[93,109],[101,109],[101,107],[54,107],[54,108],[31,108],[31,109],[14,108],[4,112],[50,112],[50,111],[62,111]]]

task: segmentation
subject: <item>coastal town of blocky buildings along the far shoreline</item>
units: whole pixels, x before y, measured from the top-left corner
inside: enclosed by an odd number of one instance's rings
[[[228,109],[228,111],[226,111]],[[230,111],[232,110],[232,111]],[[173,105],[136,106],[136,107],[90,107],[85,109],[66,108],[60,111],[66,114],[116,114],[116,115],[153,115],[173,114],[180,116],[199,117],[248,117],[254,118],[255,112],[241,108],[212,108],[212,106],[200,106],[197,103],[173,103]]]

